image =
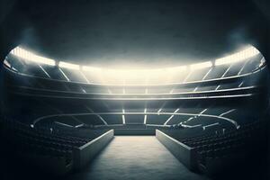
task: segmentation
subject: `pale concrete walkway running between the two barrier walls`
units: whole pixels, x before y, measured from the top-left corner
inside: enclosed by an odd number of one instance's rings
[[[154,136],[116,136],[83,172],[80,180],[206,179],[185,168]]]

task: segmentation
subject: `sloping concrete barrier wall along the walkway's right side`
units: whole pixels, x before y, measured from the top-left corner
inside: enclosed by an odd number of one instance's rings
[[[156,130],[156,138],[190,170],[195,170],[196,160],[194,149],[184,145],[182,142],[173,139],[160,130]]]

